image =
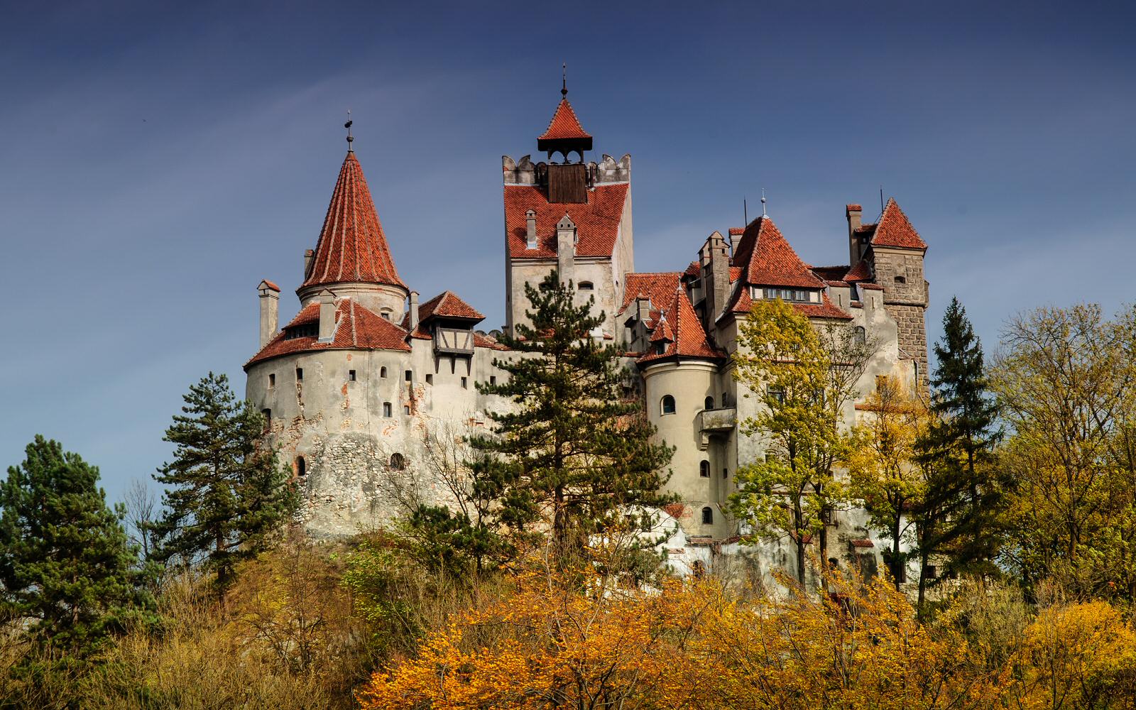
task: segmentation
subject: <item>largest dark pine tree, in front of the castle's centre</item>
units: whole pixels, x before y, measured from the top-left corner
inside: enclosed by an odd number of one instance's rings
[[[604,320],[591,315],[594,299],[575,306],[557,272],[525,293],[532,325],[502,337],[523,356],[494,361],[507,376],[477,385],[516,410],[491,414],[493,434],[471,438],[474,471],[496,499],[494,524],[519,537],[548,531],[570,556],[636,507],[671,500],[659,490],[674,450],[651,441],[654,427],[625,394],[619,349],[592,336]]]

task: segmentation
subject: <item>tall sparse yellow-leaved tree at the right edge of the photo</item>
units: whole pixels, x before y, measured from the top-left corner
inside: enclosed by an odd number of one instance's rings
[[[1136,599],[1136,311],[1041,308],[1004,328],[993,385],[1012,435],[1003,558],[1027,587]]]

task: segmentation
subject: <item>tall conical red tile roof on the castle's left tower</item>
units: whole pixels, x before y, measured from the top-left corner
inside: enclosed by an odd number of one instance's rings
[[[301,289],[319,284],[368,282],[402,286],[383,235],[362,167],[353,152],[343,159],[327,206],[315,260]]]

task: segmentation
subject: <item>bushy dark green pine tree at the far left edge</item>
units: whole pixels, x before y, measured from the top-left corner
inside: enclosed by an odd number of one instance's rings
[[[99,469],[36,436],[0,487],[0,608],[41,642],[85,655],[145,595],[134,550],[98,487]]]

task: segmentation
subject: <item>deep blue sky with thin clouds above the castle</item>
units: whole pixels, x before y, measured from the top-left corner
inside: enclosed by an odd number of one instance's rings
[[[295,312],[349,107],[403,279],[499,326],[500,157],[536,153],[561,61],[594,157],[633,156],[638,270],[683,268],[762,187],[802,258],[842,262],[844,204],[875,217],[883,185],[930,245],[933,339],[952,294],[988,351],[1022,309],[1133,300],[1136,18],[1120,3],[0,12],[0,463],[43,433],[111,498],[168,458],[191,383],[224,371],[243,392],[256,284]]]

